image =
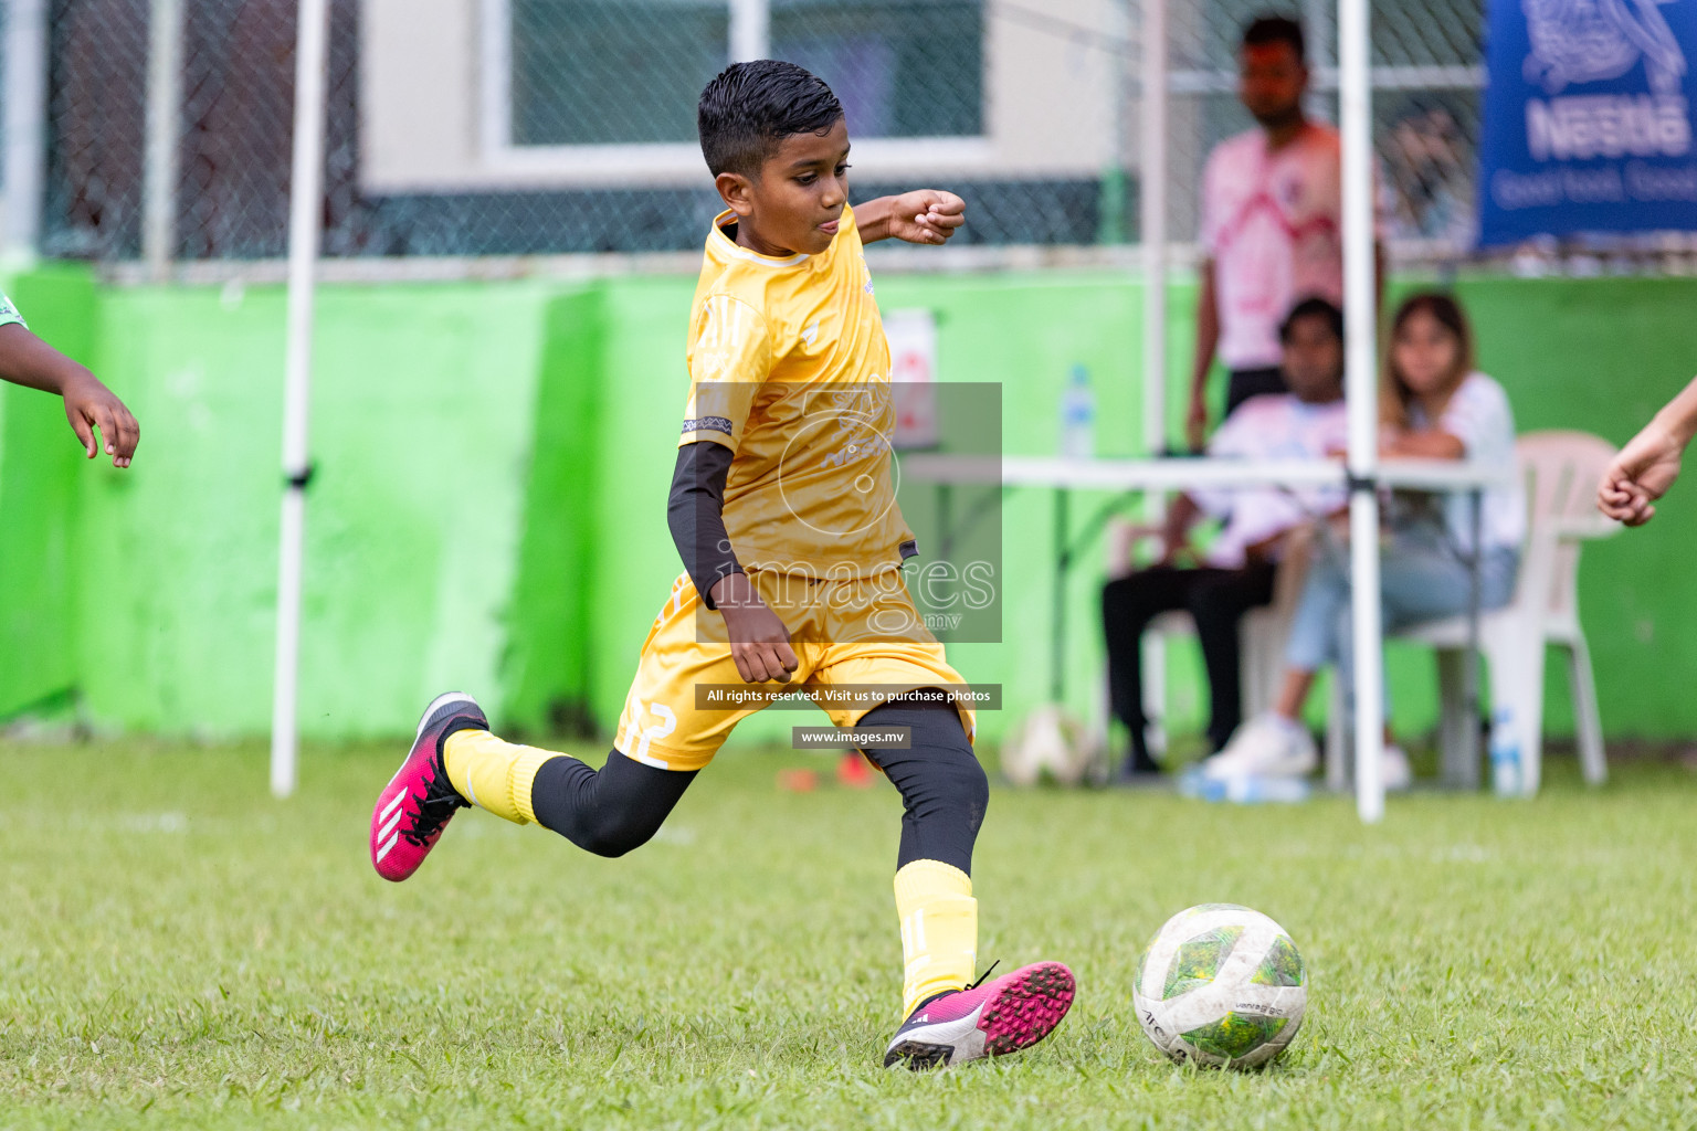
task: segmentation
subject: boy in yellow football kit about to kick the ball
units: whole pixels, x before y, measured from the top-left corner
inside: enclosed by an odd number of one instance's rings
[[[940,244],[964,203],[923,190],[848,209],[842,107],[789,63],[728,68],[697,117],[728,207],[691,307],[667,504],[684,575],[643,644],[614,749],[591,770],[506,743],[472,697],[441,695],[377,799],[372,863],[407,878],[467,805],[619,856],[653,836],[762,694],[799,685],[838,727],[898,727],[910,743],[867,749],[905,807],[906,1021],[884,1063],[1017,1051],[1066,1016],[1073,973],[1047,961],[971,983],[972,844],[989,790],[972,714],[945,694],[964,680],[901,575],[916,548],[891,480],[889,346],[860,253],[891,237]],[[867,687],[879,705],[845,694]]]

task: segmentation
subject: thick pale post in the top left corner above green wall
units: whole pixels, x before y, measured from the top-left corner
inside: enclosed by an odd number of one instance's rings
[[[5,256],[32,261],[41,248],[48,163],[48,0],[5,5]]]

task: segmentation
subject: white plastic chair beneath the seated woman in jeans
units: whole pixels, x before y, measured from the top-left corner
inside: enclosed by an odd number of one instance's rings
[[[1527,797],[1537,792],[1543,772],[1544,649],[1551,644],[1568,653],[1585,782],[1600,785],[1609,777],[1597,680],[1580,626],[1578,566],[1582,541],[1607,538],[1621,529],[1595,507],[1597,480],[1614,454],[1609,441],[1588,432],[1527,432],[1515,441],[1527,499],[1521,577],[1514,600],[1480,617],[1480,653],[1488,666],[1493,714],[1507,709],[1507,726],[1521,749],[1521,787]],[[1427,621],[1397,632],[1395,639],[1429,644],[1437,651],[1442,773],[1456,783],[1475,783],[1478,765],[1468,763],[1468,729],[1476,727],[1478,719],[1466,702],[1468,619]],[[1334,785],[1342,782],[1347,765],[1349,729],[1344,716],[1334,682],[1327,734],[1327,780]]]

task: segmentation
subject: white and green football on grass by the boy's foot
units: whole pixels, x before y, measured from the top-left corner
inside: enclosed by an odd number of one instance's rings
[[[1156,931],[1137,963],[1132,1004],[1173,1060],[1254,1068],[1290,1045],[1308,975],[1285,928],[1237,904],[1200,904]]]

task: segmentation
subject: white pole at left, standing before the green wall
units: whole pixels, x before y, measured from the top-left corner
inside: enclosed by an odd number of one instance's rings
[[[300,558],[312,468],[312,287],[324,171],[324,70],[329,0],[300,0],[295,27],[295,139],[288,181],[288,344],[283,363],[283,521],[277,561],[277,668],[272,694],[272,794],[295,792],[300,680]]]

